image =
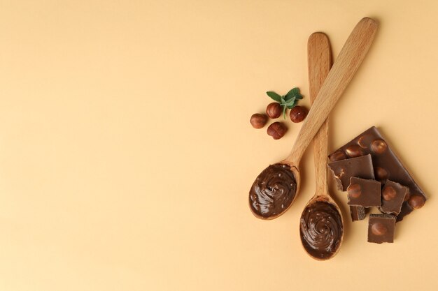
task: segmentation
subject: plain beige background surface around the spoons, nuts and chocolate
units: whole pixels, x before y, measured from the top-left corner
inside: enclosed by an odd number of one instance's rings
[[[437,1],[0,1],[0,290],[438,290]],[[248,120],[298,86],[306,41],[337,56],[381,26],[331,114],[330,151],[375,125],[430,198],[368,244],[346,220],[333,260],[302,250],[313,155],[291,209],[248,190],[285,157]],[[348,218],[346,195],[334,191]]]

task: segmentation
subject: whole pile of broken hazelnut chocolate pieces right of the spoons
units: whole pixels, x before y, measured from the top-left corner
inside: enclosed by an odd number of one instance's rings
[[[425,204],[423,191],[374,126],[330,154],[329,160],[339,190],[348,192],[352,221],[364,219],[369,207],[382,213],[369,215],[369,242],[392,243],[395,223]]]

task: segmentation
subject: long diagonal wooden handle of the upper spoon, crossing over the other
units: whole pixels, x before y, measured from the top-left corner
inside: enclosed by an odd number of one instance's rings
[[[337,103],[337,100],[339,100],[353,78],[356,70],[362,64],[374,40],[376,30],[377,23],[368,17],[363,18],[356,24],[334,62],[332,70],[327,75],[307,118],[304,119],[297,140],[286,161],[299,165],[306,147],[309,146],[318,129],[323,125],[335,103]]]

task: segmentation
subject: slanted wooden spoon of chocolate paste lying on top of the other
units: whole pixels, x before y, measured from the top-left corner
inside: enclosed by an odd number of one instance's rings
[[[298,166],[304,150],[362,64],[376,29],[377,23],[371,18],[365,17],[356,24],[304,120],[290,155],[267,167],[255,179],[249,193],[249,204],[257,218],[277,218],[295,201],[300,185]]]

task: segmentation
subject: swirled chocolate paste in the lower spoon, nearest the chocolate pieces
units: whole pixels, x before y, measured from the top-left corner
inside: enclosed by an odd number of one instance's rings
[[[306,207],[300,221],[301,240],[311,256],[326,259],[336,253],[344,232],[336,207],[328,202],[314,202]]]

